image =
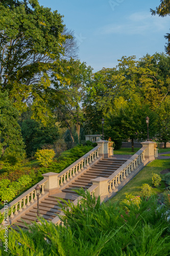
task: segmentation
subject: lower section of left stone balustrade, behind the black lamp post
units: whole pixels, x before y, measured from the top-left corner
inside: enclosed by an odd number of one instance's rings
[[[41,193],[39,198],[45,194],[44,192],[44,186],[45,183],[47,182],[46,179],[41,180],[37,184],[41,187]],[[36,184],[36,185],[37,185]],[[27,190],[25,193],[23,193],[21,196],[13,200],[11,203],[8,204],[8,212],[11,212],[10,219],[13,219],[14,217],[18,216],[23,210],[28,208],[32,203],[37,201],[37,196],[36,196],[36,190],[34,185],[31,187],[29,190]],[[4,208],[1,210],[1,214],[4,214]],[[5,222],[3,221],[2,224]]]

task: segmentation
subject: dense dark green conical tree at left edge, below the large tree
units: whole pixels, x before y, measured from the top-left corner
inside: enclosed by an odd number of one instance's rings
[[[25,144],[17,122],[18,117],[19,112],[12,105],[7,92],[0,92],[0,145],[4,157],[8,154],[19,159],[25,157]]]

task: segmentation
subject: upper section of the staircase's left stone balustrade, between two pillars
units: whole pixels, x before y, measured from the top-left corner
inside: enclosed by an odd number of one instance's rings
[[[99,149],[101,145],[94,147],[91,151],[79,158],[76,162],[69,165],[58,175],[58,187],[65,185],[68,181],[82,172],[93,161],[99,158]]]

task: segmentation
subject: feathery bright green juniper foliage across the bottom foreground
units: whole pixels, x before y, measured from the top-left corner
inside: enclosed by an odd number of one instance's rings
[[[61,204],[63,226],[40,219],[41,225],[34,223],[28,231],[9,230],[9,255],[169,255],[165,209],[157,210],[154,198],[141,200],[140,208],[129,205],[126,214],[116,204],[101,204],[88,191],[78,193],[83,197],[78,205]],[[4,243],[4,230],[0,239]]]

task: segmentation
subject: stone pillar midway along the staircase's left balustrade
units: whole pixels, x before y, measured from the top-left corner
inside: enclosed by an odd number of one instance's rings
[[[57,173],[46,173],[42,174],[44,179],[47,179],[47,182],[45,182],[44,189],[49,191],[50,194],[57,193],[59,186],[58,186],[58,176]],[[51,193],[53,191],[53,193]]]

